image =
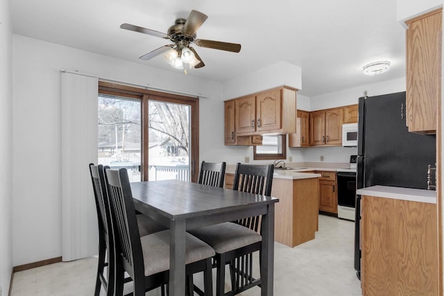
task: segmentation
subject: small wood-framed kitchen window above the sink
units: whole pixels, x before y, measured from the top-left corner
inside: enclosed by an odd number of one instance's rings
[[[262,146],[253,147],[253,159],[286,159],[287,139],[285,134],[262,137]]]

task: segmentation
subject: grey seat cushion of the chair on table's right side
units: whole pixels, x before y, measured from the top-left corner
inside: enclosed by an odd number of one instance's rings
[[[225,222],[189,231],[222,254],[262,241],[262,236],[236,223]]]

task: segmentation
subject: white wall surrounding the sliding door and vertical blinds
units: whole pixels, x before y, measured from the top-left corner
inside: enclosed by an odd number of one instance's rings
[[[223,145],[223,100],[219,82],[20,35],[13,35],[13,51],[13,167],[17,168],[13,175],[14,265],[61,256],[60,70],[78,70],[107,80],[149,84],[185,94],[203,94],[208,98],[200,99],[200,159],[219,161],[230,154]],[[1,71],[3,73],[3,67]],[[6,114],[6,110],[0,110]],[[6,116],[0,118],[3,120]],[[5,125],[0,126],[3,133]],[[8,162],[5,160],[2,164]],[[3,243],[3,237],[0,239]]]

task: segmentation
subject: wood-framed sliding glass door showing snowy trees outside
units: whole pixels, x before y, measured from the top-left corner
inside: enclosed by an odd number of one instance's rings
[[[197,181],[198,98],[99,82],[99,164],[131,182]]]

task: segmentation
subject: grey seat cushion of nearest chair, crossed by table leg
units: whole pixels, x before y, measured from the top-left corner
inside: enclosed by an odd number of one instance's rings
[[[164,230],[140,238],[146,277],[169,270],[169,236],[170,231]],[[210,245],[191,234],[185,234],[185,264],[211,258],[215,254]]]

